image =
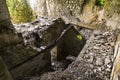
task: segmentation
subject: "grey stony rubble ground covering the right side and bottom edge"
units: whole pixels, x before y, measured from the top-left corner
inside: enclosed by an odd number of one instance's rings
[[[40,80],[109,80],[114,60],[115,32],[94,31],[76,61],[62,72],[44,74]]]

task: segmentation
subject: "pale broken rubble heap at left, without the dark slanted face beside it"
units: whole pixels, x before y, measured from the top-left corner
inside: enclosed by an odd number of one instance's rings
[[[31,23],[14,24],[17,34],[23,37],[24,45],[40,47],[45,31],[53,24],[55,19],[39,18]]]

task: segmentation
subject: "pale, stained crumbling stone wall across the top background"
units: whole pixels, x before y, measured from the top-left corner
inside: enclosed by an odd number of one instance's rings
[[[62,17],[67,23],[81,26],[90,24],[97,29],[120,28],[119,0],[105,1],[104,6],[96,5],[96,0],[36,0],[39,16]],[[84,25],[82,25],[84,27]],[[88,26],[87,26],[88,27]],[[93,28],[94,29],[94,28]]]

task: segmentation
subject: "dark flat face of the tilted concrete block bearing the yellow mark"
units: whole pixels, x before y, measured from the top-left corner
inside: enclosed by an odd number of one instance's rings
[[[58,44],[58,60],[65,59],[68,55],[78,56],[86,43],[82,36],[81,39],[77,38],[78,35],[81,36],[74,26],[72,26],[61,40],[61,44]]]

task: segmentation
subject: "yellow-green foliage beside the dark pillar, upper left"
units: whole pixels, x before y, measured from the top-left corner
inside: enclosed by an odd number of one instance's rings
[[[33,19],[33,12],[27,0],[7,0],[13,23],[25,23]]]

